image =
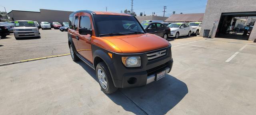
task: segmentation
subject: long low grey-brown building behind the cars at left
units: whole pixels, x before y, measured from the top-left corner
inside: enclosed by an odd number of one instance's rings
[[[40,12],[12,10],[8,16],[12,20],[32,20],[37,22],[68,22],[70,11],[40,9]]]

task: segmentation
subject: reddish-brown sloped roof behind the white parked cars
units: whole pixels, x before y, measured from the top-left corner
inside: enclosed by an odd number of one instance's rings
[[[202,22],[204,13],[197,14],[172,14],[165,22]]]

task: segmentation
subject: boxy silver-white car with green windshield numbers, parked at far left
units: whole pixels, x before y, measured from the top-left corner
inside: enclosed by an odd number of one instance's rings
[[[16,40],[24,37],[40,37],[40,33],[34,21],[17,20],[14,22],[14,37]]]

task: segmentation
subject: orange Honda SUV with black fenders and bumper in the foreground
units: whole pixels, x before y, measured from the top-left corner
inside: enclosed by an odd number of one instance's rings
[[[81,10],[69,20],[71,57],[96,71],[104,93],[146,85],[172,69],[171,44],[146,33],[134,16]]]

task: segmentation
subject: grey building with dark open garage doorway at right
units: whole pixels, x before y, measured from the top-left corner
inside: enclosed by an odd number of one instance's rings
[[[253,41],[256,39],[254,23],[249,22],[250,25],[244,25],[241,30],[231,27],[236,25],[232,20],[234,17],[251,19],[254,16],[256,16],[256,0],[208,0],[200,33],[204,33],[207,29],[210,30],[212,37]]]

